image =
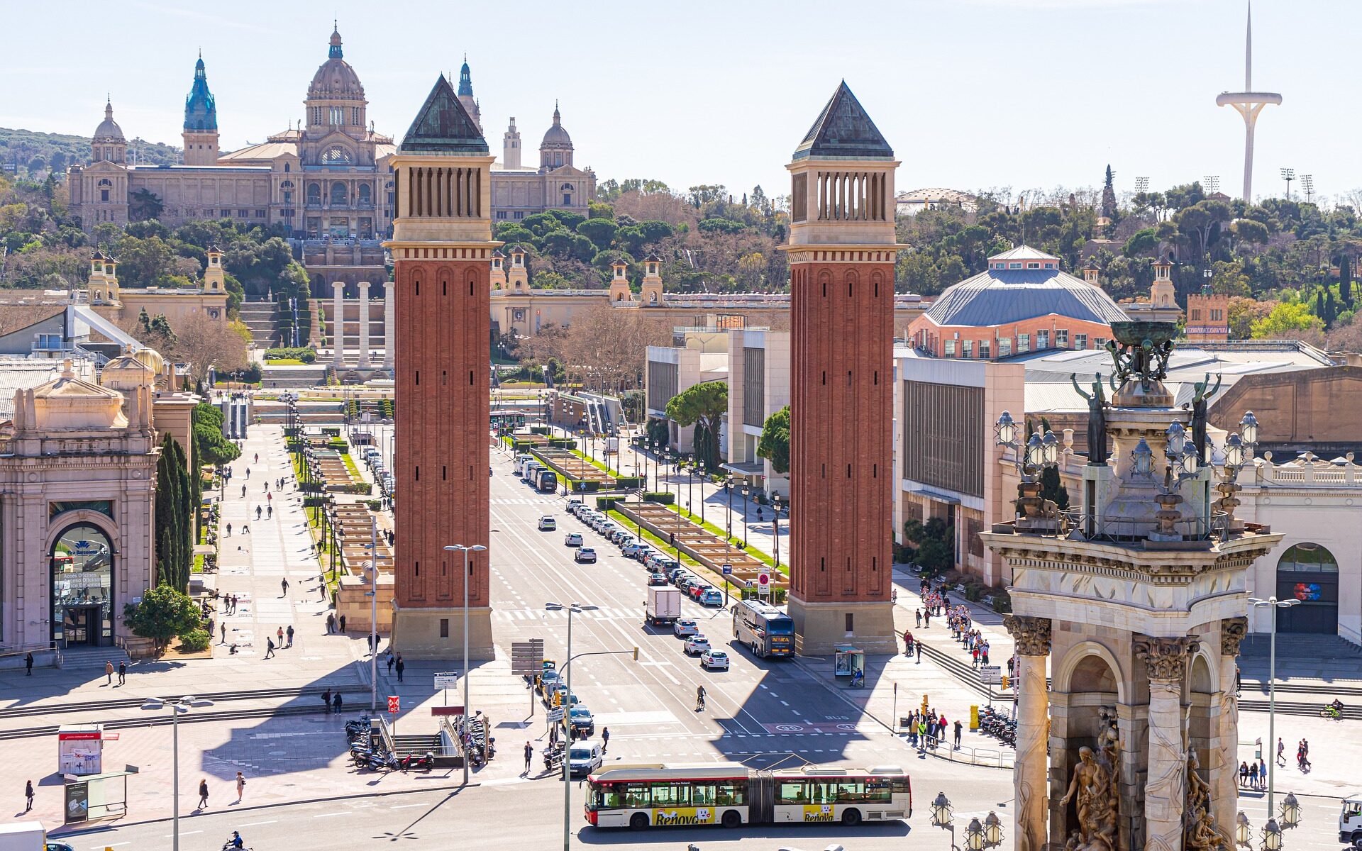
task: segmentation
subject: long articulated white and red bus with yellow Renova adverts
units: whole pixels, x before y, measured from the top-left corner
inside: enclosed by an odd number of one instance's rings
[[[741,762],[622,765],[587,777],[587,822],[598,828],[903,821],[908,775],[896,767],[756,771]]]

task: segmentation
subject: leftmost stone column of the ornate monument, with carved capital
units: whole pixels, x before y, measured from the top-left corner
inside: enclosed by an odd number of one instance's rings
[[[1016,640],[1017,652],[1017,756],[1012,769],[1017,799],[1016,851],[1043,851],[1050,773],[1045,741],[1049,705],[1045,660],[1050,655],[1050,618],[1009,614],[1002,624]]]

